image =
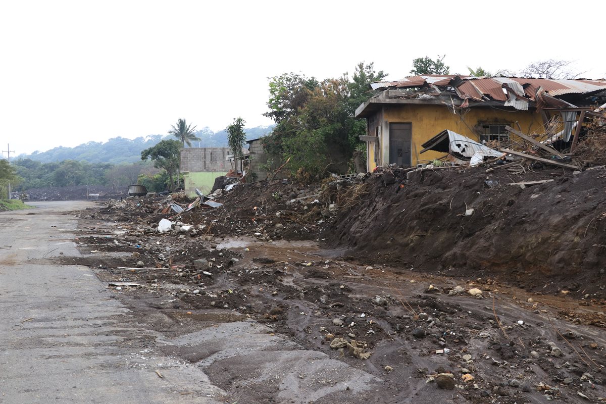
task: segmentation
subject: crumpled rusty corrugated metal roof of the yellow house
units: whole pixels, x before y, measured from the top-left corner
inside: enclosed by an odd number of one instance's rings
[[[379,104],[442,104],[457,108],[485,105],[525,111],[529,107],[590,104],[591,100],[587,100],[590,96],[606,94],[604,79],[421,75],[376,82],[370,87],[382,91],[358,107],[356,118],[366,118]]]

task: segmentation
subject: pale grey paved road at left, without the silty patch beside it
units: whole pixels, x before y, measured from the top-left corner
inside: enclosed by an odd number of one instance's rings
[[[150,331],[89,268],[55,265],[78,254],[63,213],[87,202],[38,206],[0,214],[0,403],[215,402],[197,366],[146,356],[138,340]]]

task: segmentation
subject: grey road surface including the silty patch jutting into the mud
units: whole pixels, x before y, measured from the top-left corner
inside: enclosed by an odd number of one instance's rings
[[[214,326],[191,333],[175,316],[135,316],[90,268],[58,264],[79,256],[68,211],[90,205],[38,206],[0,214],[0,403],[243,403],[250,381],[278,402],[347,403],[376,388],[377,377],[238,313],[205,313]],[[202,363],[162,354],[175,349]],[[241,392],[208,380],[201,366],[214,363]]]

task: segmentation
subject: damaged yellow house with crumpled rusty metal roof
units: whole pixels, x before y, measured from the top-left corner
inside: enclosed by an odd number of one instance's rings
[[[360,105],[366,118],[367,170],[404,167],[447,154],[470,161],[490,156],[485,145],[507,143],[511,131],[542,134],[555,127],[562,147],[579,136],[584,118],[606,102],[606,81],[422,75],[376,82]],[[555,140],[555,139],[554,139]],[[574,145],[573,145],[574,148]],[[494,153],[492,154],[494,155]]]

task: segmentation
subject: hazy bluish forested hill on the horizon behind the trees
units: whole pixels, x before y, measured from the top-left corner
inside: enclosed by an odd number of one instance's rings
[[[247,139],[265,136],[273,129],[270,127],[245,128]],[[196,136],[200,141],[193,142],[193,147],[227,147],[227,132],[213,132],[208,128],[199,130]],[[141,161],[141,151],[158,144],[163,139],[171,139],[168,135],[152,134],[136,139],[113,137],[107,142],[87,142],[76,147],[55,147],[48,151],[35,151],[32,154],[19,154],[18,159],[32,159],[42,163],[59,162],[64,160],[86,161],[89,163],[132,163]],[[174,139],[174,137],[172,138]]]

